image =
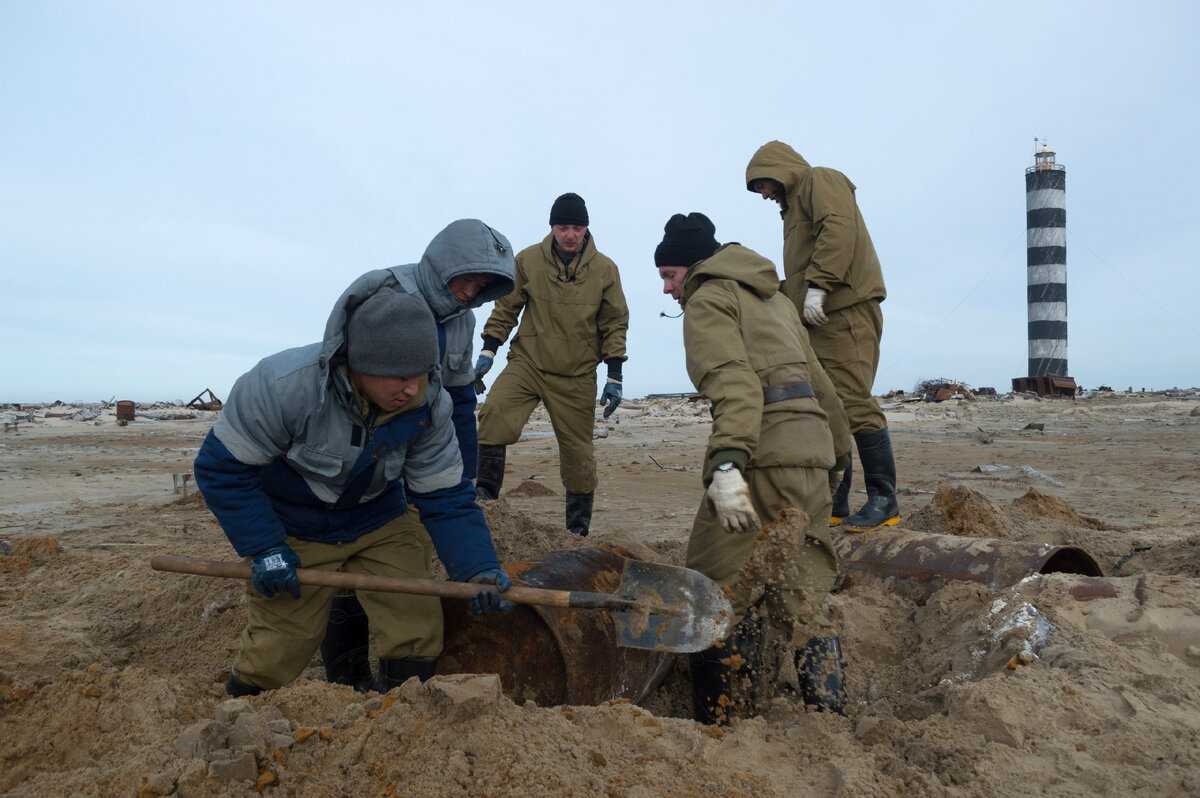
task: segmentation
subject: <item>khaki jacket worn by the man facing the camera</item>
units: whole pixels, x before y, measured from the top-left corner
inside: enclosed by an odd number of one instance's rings
[[[629,306],[617,264],[588,235],[568,264],[554,252],[554,236],[517,253],[516,287],[496,300],[484,340],[503,343],[521,314],[512,353],[541,371],[563,377],[594,373],[604,360],[625,360]]]

